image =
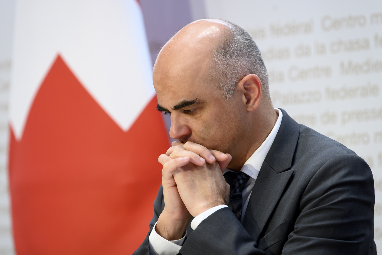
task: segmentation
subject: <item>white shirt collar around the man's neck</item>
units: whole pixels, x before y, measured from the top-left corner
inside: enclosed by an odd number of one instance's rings
[[[283,118],[283,113],[281,110],[275,108],[276,112],[278,112],[278,118],[277,121],[272,128],[272,131],[269,133],[265,141],[260,145],[259,148],[249,157],[249,159],[244,163],[244,166],[241,167],[240,171],[244,172],[245,174],[248,174],[249,177],[252,177],[253,179],[257,179],[257,175],[259,175],[260,168],[262,166],[262,163],[265,160],[265,157],[267,156],[270,146],[272,146],[273,141],[275,140],[275,137],[277,135],[278,129],[281,125],[281,120]],[[232,171],[231,169],[225,169],[224,172]]]

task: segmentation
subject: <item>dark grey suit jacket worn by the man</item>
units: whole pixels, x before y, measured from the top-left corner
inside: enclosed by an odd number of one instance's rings
[[[181,254],[377,254],[369,166],[282,112],[243,224],[229,208],[220,209],[195,231],[188,226]],[[151,228],[163,208],[160,187]],[[134,254],[150,253],[149,234]]]

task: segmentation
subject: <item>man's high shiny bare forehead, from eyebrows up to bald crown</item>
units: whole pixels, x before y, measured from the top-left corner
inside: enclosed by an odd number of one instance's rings
[[[180,101],[196,97],[208,99],[218,95],[211,76],[212,52],[219,29],[207,26],[182,29],[160,51],[153,70],[153,83],[161,106],[172,107]],[[193,25],[194,26],[194,25]],[[215,31],[205,34],[205,31]],[[204,100],[207,101],[207,100]],[[170,108],[167,108],[170,109]]]

